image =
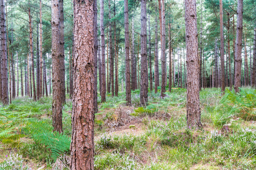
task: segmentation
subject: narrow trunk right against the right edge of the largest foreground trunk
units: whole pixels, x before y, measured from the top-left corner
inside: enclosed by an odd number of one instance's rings
[[[98,27],[97,27],[97,0],[93,1],[93,66],[94,66],[94,113],[98,112],[98,91],[97,91],[97,75],[98,75]]]

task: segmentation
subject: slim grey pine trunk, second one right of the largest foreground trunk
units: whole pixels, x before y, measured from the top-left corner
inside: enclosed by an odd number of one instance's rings
[[[105,67],[105,34],[104,34],[104,0],[101,0],[101,102],[106,101],[106,67]]]

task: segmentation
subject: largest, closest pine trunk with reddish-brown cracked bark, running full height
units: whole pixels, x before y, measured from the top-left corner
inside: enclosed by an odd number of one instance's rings
[[[93,2],[74,1],[71,169],[93,169],[94,24]],[[86,36],[82,36],[86,35]]]

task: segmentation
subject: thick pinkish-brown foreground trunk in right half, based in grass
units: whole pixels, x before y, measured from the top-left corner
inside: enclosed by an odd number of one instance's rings
[[[185,37],[187,49],[187,126],[200,128],[199,58],[197,45],[196,0],[185,0]]]

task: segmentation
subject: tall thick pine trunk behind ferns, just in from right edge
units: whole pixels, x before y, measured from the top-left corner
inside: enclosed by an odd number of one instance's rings
[[[236,39],[236,70],[234,90],[239,92],[241,87],[241,65],[242,65],[242,33],[243,33],[243,0],[237,3],[237,39]]]

